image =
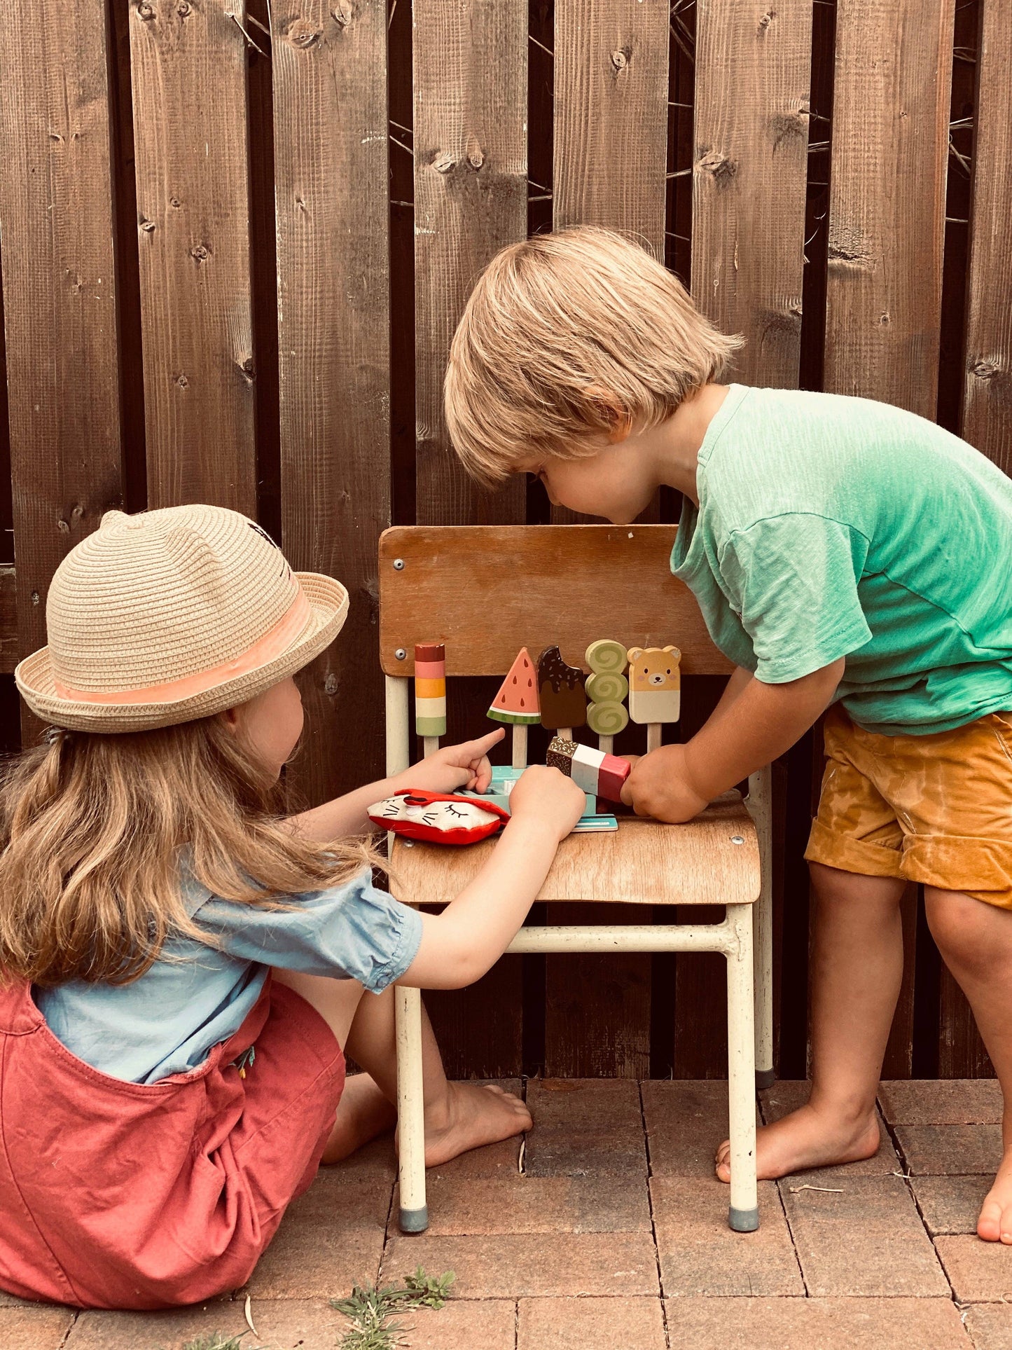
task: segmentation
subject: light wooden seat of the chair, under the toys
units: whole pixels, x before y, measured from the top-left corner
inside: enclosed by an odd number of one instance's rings
[[[482,869],[495,840],[466,848],[397,838],[390,891],[406,905],[444,905]],[[756,828],[738,792],[685,825],[621,817],[618,832],[571,834],[538,900],[626,905],[752,905],[760,894]]]

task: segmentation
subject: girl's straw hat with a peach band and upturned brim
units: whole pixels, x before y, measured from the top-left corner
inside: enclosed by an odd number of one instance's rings
[[[103,516],[53,576],[49,647],[15,671],[28,707],[82,732],[140,732],[262,694],[340,632],[348,593],[293,572],[223,506]]]

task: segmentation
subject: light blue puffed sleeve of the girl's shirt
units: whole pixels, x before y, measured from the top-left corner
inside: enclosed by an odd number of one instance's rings
[[[399,980],[418,952],[420,914],[376,890],[368,871],[285,903],[287,909],[269,910],[212,895],[194,918],[231,956],[359,980],[374,994]]]

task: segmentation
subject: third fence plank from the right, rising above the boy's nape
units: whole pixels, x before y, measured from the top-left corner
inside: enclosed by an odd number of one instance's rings
[[[696,7],[692,292],[748,344],[738,378],[793,389],[802,343],[812,0]]]

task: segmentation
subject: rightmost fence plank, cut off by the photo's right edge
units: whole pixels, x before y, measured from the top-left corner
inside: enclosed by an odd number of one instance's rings
[[[1012,473],[1012,23],[984,0],[962,433]]]

